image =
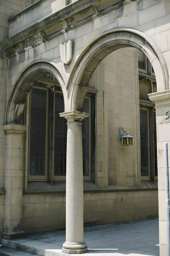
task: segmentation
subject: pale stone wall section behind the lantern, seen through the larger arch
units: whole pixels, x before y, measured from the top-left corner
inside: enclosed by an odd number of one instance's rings
[[[105,177],[105,172],[108,175],[108,184],[106,185],[140,186],[138,178],[140,177],[140,121],[137,61],[138,53],[135,48],[123,48],[109,54],[101,63],[102,84],[96,84],[96,89],[102,89],[103,93],[102,100],[100,95],[96,96],[98,144],[96,159],[97,161],[102,160],[99,152],[103,150],[103,161],[105,162],[103,177]],[[103,104],[102,110],[98,107],[100,104]],[[101,143],[101,125],[99,125],[102,115],[104,118],[104,143]],[[129,131],[129,134],[134,137],[133,146],[122,146],[122,141],[119,139],[119,128]],[[99,173],[100,170],[97,168],[96,172]]]

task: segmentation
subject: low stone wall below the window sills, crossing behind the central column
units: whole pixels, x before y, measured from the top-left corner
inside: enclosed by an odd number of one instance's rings
[[[158,216],[158,191],[84,193],[84,225],[102,225]],[[38,233],[65,228],[65,193],[24,194],[23,230]]]

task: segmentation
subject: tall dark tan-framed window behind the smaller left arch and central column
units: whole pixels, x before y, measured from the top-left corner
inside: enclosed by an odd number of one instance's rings
[[[47,79],[47,78],[46,78]],[[44,87],[40,81],[32,87],[27,100],[28,181],[65,180],[67,120],[64,97],[58,86]],[[82,120],[83,175],[91,180],[91,97],[85,97]]]

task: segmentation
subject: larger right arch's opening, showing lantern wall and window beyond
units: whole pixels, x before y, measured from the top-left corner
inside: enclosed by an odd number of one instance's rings
[[[96,137],[91,159],[92,180],[100,187],[140,187],[157,180],[156,112],[148,98],[157,91],[156,77],[140,53],[134,47],[115,50],[101,61],[88,84],[88,90],[97,91],[95,111],[91,109],[91,137]],[[133,146],[122,146],[119,128],[134,137]]]

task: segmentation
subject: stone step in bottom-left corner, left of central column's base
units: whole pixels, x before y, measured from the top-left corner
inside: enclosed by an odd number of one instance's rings
[[[10,247],[18,251],[26,252],[31,255],[39,256],[66,256],[68,254],[62,253],[60,244],[47,243],[45,241],[32,239],[2,239],[4,247]],[[23,255],[22,255],[23,256]]]

